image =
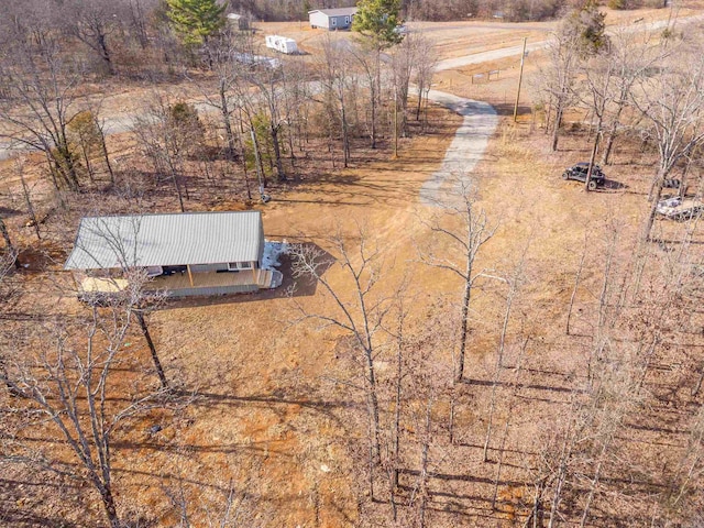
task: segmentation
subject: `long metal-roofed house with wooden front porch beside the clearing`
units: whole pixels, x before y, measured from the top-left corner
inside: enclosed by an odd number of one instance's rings
[[[282,278],[263,268],[264,246],[260,211],[87,217],[64,270],[79,297],[121,290],[133,268],[152,277],[145,289],[169,297],[256,292]]]

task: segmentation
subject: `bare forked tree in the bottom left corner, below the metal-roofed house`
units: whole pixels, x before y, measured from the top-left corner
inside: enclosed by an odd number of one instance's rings
[[[164,404],[162,392],[142,388],[125,405],[116,404],[114,369],[123,361],[122,345],[132,319],[131,302],[114,305],[107,312],[92,307],[85,332],[54,327],[43,336],[28,339],[36,346],[15,351],[12,375],[3,380],[22,396],[18,410],[29,405],[34,427],[51,427],[61,435],[76,457],[76,476],[99,493],[106,516],[121,528],[112,472],[113,436],[131,417]],[[20,341],[15,341],[15,345]]]

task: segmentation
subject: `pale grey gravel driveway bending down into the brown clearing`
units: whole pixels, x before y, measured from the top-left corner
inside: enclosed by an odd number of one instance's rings
[[[438,206],[447,196],[448,179],[468,178],[484,157],[488,140],[494,135],[498,116],[494,107],[486,102],[430,90],[428,98],[464,117],[446,153],[442,166],[420,188],[420,202]],[[459,184],[459,182],[458,182]]]

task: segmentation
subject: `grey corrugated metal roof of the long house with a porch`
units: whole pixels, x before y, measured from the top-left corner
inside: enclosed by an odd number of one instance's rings
[[[64,270],[255,262],[262,213],[86,217]]]

